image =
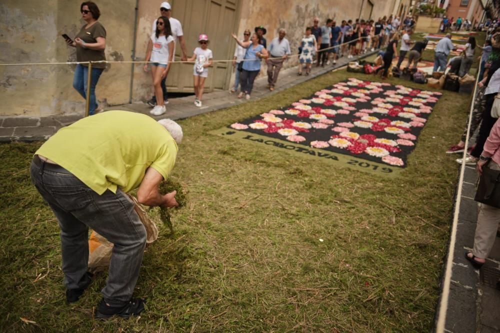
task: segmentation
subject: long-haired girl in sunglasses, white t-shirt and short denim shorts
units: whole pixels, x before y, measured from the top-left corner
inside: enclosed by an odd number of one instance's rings
[[[170,30],[170,22],[167,17],[160,16],[156,19],[156,31],[151,35],[147,44],[146,61],[151,63],[151,77],[153,79],[154,95],[156,106],[149,111],[153,115],[165,113],[163,105],[163,92],[161,90],[161,80],[168,74],[170,62],[173,57],[173,37]],[[144,71],[147,72],[147,63],[144,64]]]

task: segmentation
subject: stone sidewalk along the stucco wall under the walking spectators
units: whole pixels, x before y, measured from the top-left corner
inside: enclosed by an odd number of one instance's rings
[[[249,100],[246,100],[244,98],[238,99],[236,97],[237,93],[229,93],[227,90],[214,91],[203,94],[202,107],[194,106],[194,95],[171,98],[169,99],[169,103],[166,105],[166,113],[160,116],[152,117],[155,119],[165,117],[169,117],[173,120],[184,119],[201,113],[211,112],[221,108],[258,100],[262,97],[272,95],[286,88],[289,88],[297,83],[301,83],[324,74],[330,70],[342,67],[349,61],[355,61],[357,59],[364,58],[375,52],[377,52],[377,50],[373,52],[368,51],[365,54],[352,59],[347,59],[347,57],[344,56],[338,59],[335,65],[330,64],[325,65],[324,67],[316,67],[315,65],[313,65],[311,73],[308,76],[305,75],[305,73],[302,74],[302,76],[298,76],[296,66],[282,69],[279,72],[275,90],[272,92],[266,88],[267,75],[260,74],[257,79],[255,79],[255,82],[253,84],[253,91]],[[262,65],[264,66],[264,68],[266,68],[265,63],[263,63]],[[82,102],[82,109],[83,107],[84,104]],[[133,102],[131,104],[127,103],[122,105],[108,106],[104,108],[104,110],[110,109],[133,111],[149,115],[149,110],[151,109],[151,107],[143,102]],[[59,128],[67,126],[80,119],[81,117],[82,114],[62,114],[47,117],[0,117],[0,142],[46,140]]]

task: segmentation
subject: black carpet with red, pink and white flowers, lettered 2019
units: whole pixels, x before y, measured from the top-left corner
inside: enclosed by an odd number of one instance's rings
[[[394,175],[407,165],[440,95],[349,78],[211,133]]]

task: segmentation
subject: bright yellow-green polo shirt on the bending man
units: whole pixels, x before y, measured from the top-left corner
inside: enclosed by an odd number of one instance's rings
[[[170,133],[151,117],[116,110],[59,129],[35,154],[53,160],[100,195],[106,189],[137,188],[149,166],[166,179],[177,150]]]

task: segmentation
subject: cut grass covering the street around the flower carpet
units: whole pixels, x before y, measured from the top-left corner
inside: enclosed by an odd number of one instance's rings
[[[443,91],[395,179],[207,134],[347,77],[376,80],[338,70],[180,121],[187,204],[146,249],[146,311],[128,320],[93,319],[107,273],[65,304],[59,228],[28,174],[41,143],[0,145],[0,331],[430,330],[458,167],[444,151],[470,95]]]

